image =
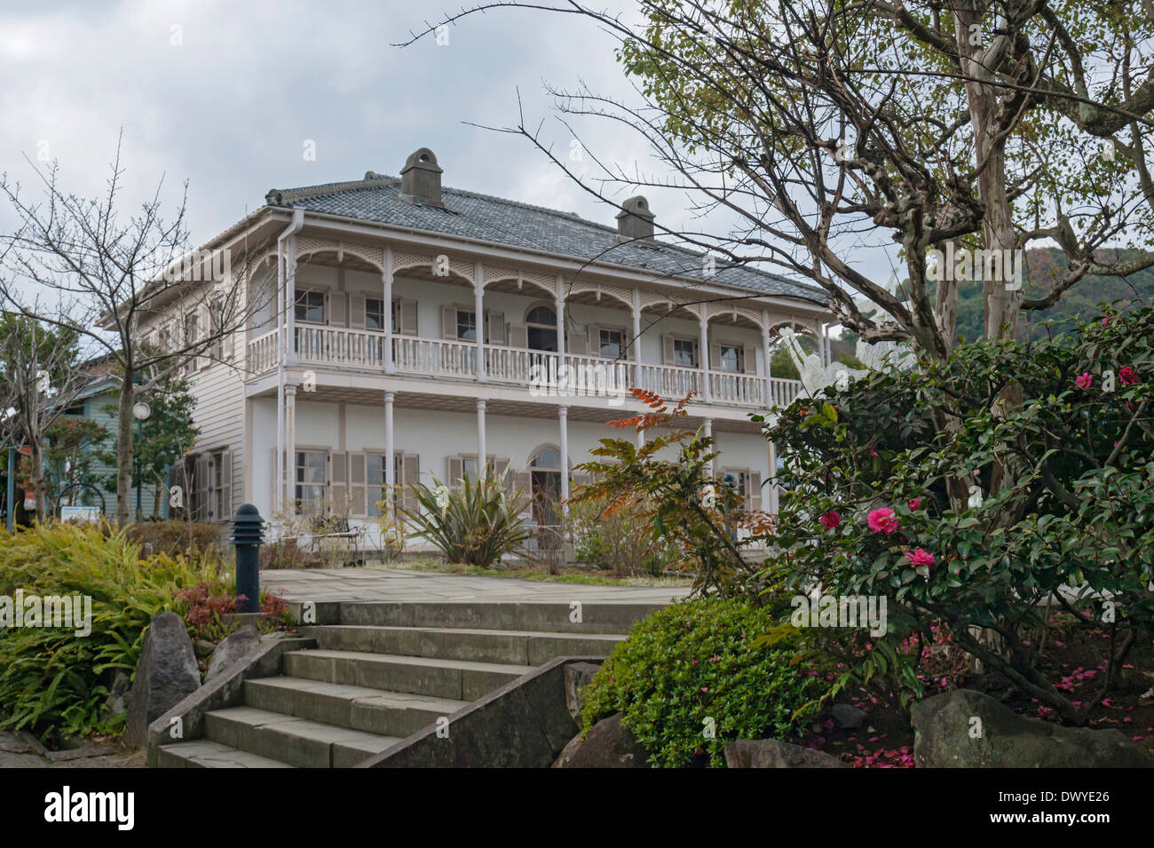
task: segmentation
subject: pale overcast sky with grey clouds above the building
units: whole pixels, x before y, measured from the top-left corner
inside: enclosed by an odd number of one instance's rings
[[[396,175],[430,148],[447,186],[614,224],[616,210],[574,185],[525,138],[469,126],[526,122],[567,155],[546,83],[586,83],[636,98],[615,42],[571,15],[503,9],[391,46],[456,5],[424,2],[14,2],[0,12],[0,171],[31,187],[24,156],[57,159],[61,182],[91,196],[117,136],[134,200],[164,175],[189,182],[194,243],[264,202],[270,188]],[[627,3],[620,3],[625,8]],[[610,5],[612,7],[612,5]],[[599,158],[653,172],[644,142],[620,125],[579,132]],[[315,160],[305,157],[315,144]],[[677,193],[645,189],[659,222],[699,227]],[[619,200],[623,200],[622,194]],[[0,209],[0,228],[12,215]]]

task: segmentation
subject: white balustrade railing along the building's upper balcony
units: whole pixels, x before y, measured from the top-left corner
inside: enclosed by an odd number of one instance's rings
[[[524,388],[531,395],[580,388],[602,397],[625,396],[629,389],[639,388],[667,398],[695,392],[705,403],[766,410],[786,406],[801,392],[796,380],[710,370],[706,384],[706,372],[700,368],[495,344],[478,346],[473,340],[394,336],[391,357],[387,357],[385,336],[380,331],[298,324],[293,337],[295,359],[302,367],[396,374],[443,383],[484,378]],[[277,347],[276,330],[248,343],[250,377],[276,369]],[[484,352],[482,369],[478,369],[479,351]]]

